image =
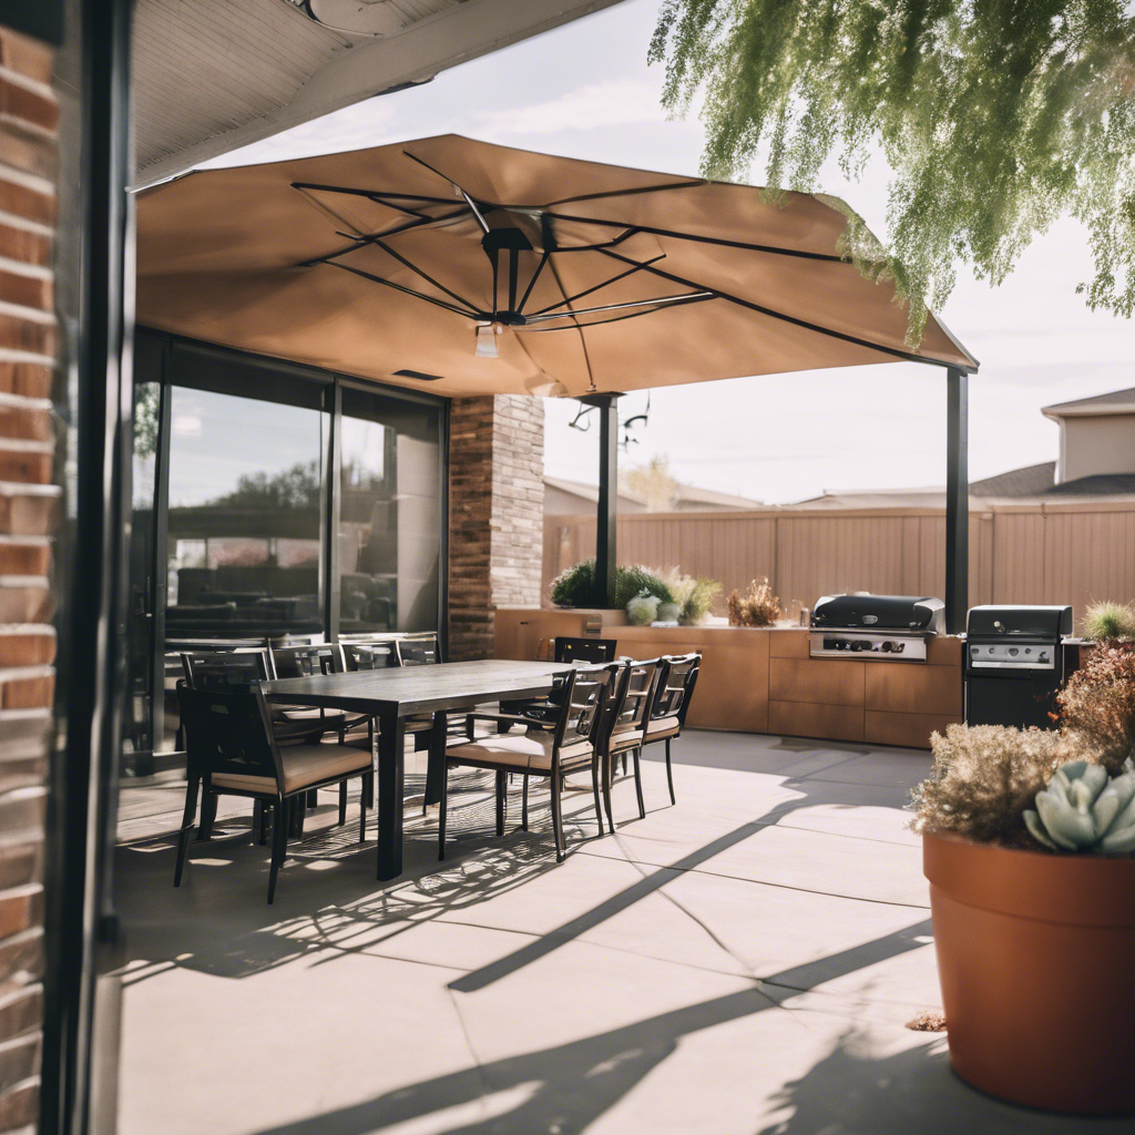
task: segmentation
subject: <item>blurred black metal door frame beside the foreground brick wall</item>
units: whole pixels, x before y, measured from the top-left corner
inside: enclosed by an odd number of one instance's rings
[[[66,754],[53,770],[42,1135],[109,1129],[117,1082],[111,891],[126,688],[134,334],[132,0],[82,0],[79,334],[74,539],[62,628]],[[74,33],[69,33],[74,34]]]

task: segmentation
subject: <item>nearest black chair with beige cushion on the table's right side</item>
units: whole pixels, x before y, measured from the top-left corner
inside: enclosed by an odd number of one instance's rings
[[[552,790],[552,827],[556,860],[563,861],[566,843],[563,833],[561,793],[569,773],[589,768],[595,793],[595,817],[603,833],[599,801],[599,765],[605,751],[609,723],[622,712],[629,689],[630,670],[617,663],[573,670],[564,681],[564,703],[553,730],[505,733],[463,741],[446,751],[442,776],[442,808],[438,821],[438,858],[445,858],[448,771],[451,767],[486,768],[496,773],[496,831],[504,834],[507,780],[510,773],[524,777],[521,827],[528,831],[528,781],[540,776]]]

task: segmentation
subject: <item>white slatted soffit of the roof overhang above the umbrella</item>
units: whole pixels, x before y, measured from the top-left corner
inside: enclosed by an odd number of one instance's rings
[[[358,35],[289,0],[137,0],[135,187],[617,2],[359,0],[390,31]]]

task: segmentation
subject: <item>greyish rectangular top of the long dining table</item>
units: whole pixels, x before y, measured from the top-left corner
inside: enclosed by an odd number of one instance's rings
[[[552,689],[554,675],[566,670],[571,666],[558,662],[447,662],[283,678],[261,682],[261,689],[269,701],[406,716],[463,709],[498,698],[539,697]]]

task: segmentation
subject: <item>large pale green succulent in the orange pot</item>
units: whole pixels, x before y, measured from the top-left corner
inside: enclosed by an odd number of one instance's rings
[[[1135,851],[1135,767],[1108,777],[1102,765],[1069,760],[1036,793],[1036,810],[1025,810],[1025,826],[1054,851]]]

